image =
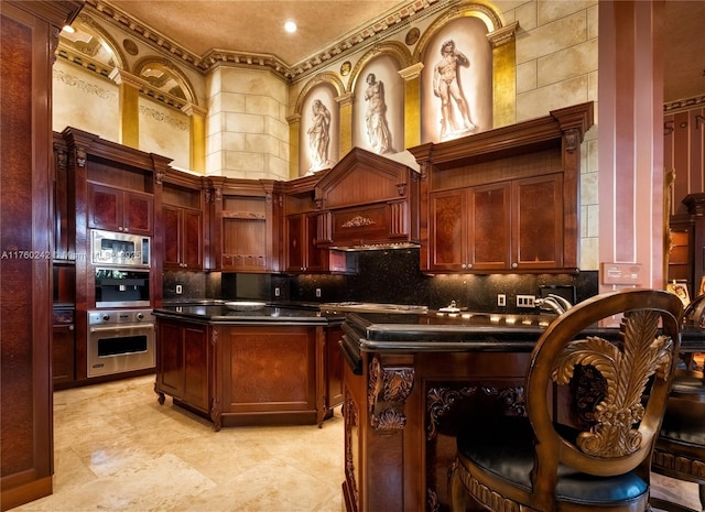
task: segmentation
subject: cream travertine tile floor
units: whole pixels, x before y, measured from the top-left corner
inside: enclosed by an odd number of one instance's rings
[[[156,402],[154,377],[54,393],[54,493],[15,512],[338,512],[343,417],[234,427]],[[693,483],[657,494],[699,509]]]

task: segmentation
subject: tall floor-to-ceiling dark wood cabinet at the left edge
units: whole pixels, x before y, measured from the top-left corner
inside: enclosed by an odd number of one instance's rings
[[[0,9],[0,504],[52,493],[52,64],[79,1]]]

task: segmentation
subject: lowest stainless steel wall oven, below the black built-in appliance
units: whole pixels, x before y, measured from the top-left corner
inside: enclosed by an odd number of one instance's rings
[[[88,377],[153,368],[151,309],[88,311]]]

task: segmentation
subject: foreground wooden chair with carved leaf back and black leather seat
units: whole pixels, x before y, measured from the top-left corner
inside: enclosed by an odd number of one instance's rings
[[[453,510],[465,511],[467,491],[502,512],[646,510],[682,313],[671,293],[631,288],[592,297],[556,318],[531,356],[528,417],[474,421],[458,433]],[[615,317],[621,317],[618,342],[595,327]],[[594,369],[603,389],[582,416],[587,422],[565,421],[554,405],[566,394],[570,403],[579,400],[581,386],[572,385],[579,368]]]

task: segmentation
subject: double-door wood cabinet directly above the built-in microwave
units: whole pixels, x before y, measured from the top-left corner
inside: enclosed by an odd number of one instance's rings
[[[108,231],[152,235],[154,199],[151,194],[89,183],[88,227]]]

